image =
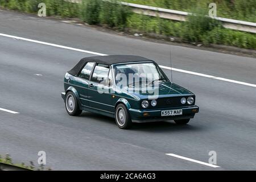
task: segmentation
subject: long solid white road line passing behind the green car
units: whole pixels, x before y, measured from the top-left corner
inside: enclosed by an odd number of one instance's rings
[[[86,50],[83,50],[83,49],[77,49],[77,48],[72,48],[72,47],[67,47],[67,46],[60,46],[60,45],[58,45],[58,44],[52,44],[52,43],[47,43],[47,42],[41,42],[41,41],[38,41],[38,40],[32,40],[32,39],[27,39],[27,38],[21,38],[21,37],[19,37],[19,36],[13,36],[13,35],[1,34],[1,33],[0,33],[0,36],[5,36],[5,37],[7,37],[7,38],[13,38],[13,39],[18,39],[18,40],[24,40],[24,41],[33,42],[33,43],[38,43],[38,44],[44,44],[44,45],[47,45],[47,46],[53,46],[53,47],[59,47],[59,48],[63,48],[63,49],[69,49],[69,50],[72,50],[72,51],[79,51],[79,52],[90,53],[90,54],[92,54],[92,55],[108,56],[108,55],[103,54],[103,53],[92,52],[92,51],[86,51]],[[217,77],[217,76],[212,76],[212,75],[205,75],[205,74],[203,74],[203,73],[191,72],[191,71],[186,71],[186,70],[183,70],[183,69],[177,69],[177,68],[166,67],[166,66],[163,66],[163,65],[159,65],[159,66],[160,66],[160,68],[172,69],[173,71],[176,71],[176,72],[187,73],[187,74],[197,75],[197,76],[203,76],[203,77],[207,77],[207,78],[212,78],[212,79],[216,79],[216,80],[232,82],[232,83],[234,83],[234,84],[240,84],[240,85],[245,85],[245,86],[252,86],[252,87],[256,88],[256,84],[250,84],[250,83],[247,83],[247,82],[236,81],[236,80],[230,80],[230,79],[227,79],[227,78],[222,78],[222,77]]]

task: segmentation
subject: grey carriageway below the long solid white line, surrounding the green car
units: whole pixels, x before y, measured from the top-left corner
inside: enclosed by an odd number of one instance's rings
[[[91,55],[3,37],[0,55],[0,107],[20,113],[0,111],[0,154],[9,152],[17,162],[36,162],[45,150],[54,169],[214,169],[164,155],[207,162],[214,150],[221,169],[256,168],[255,88],[174,72],[174,81],[197,96],[196,118],[188,126],[143,123],[125,131],[111,118],[65,113],[64,73]]]

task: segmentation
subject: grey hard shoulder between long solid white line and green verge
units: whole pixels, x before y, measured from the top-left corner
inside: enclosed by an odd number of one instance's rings
[[[170,67],[256,84],[255,59],[195,48],[152,43],[10,11],[0,11],[0,32],[105,54],[141,55]],[[134,38],[134,36],[133,36]]]

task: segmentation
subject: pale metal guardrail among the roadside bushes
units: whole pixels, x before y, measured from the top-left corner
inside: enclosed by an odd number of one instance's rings
[[[170,10],[170,9],[163,9],[159,7],[137,5],[134,3],[121,2],[121,4],[125,6],[130,6],[133,9],[133,12],[137,14],[144,14],[148,16],[159,16],[160,18],[172,19],[177,21],[185,21],[186,16],[191,14],[184,11],[176,11],[176,10]],[[245,22],[245,21],[235,20],[235,19],[228,19],[228,18],[220,18],[220,17],[213,17],[213,18],[221,21],[225,28],[256,33],[256,23]]]

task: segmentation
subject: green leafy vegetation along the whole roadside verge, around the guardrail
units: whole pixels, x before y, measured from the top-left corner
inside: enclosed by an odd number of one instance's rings
[[[125,1],[125,0],[123,0]],[[218,16],[240,18],[255,22],[255,0],[126,0],[152,6],[191,11],[186,22],[176,22],[146,15],[132,13],[129,7],[118,1],[82,0],[72,3],[64,0],[0,0],[0,6],[12,10],[36,13],[40,2],[46,3],[48,16],[80,18],[88,24],[98,24],[118,30],[138,31],[142,34],[159,34],[180,38],[183,42],[197,42],[205,45],[225,44],[241,48],[256,49],[256,35],[247,32],[229,30],[217,20],[204,16],[208,3],[216,2]],[[206,7],[203,8],[203,7]],[[232,10],[232,12],[231,12]]]

